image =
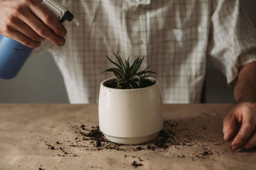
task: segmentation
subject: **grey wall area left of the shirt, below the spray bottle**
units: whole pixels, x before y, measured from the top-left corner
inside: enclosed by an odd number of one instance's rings
[[[68,103],[63,78],[51,54],[29,57],[16,78],[0,79],[0,103]]]

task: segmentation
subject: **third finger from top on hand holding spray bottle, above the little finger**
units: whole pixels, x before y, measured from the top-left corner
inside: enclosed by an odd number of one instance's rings
[[[42,36],[39,36],[29,25],[27,25],[25,22],[22,22],[19,18],[14,18],[13,19],[13,24],[12,24],[13,29],[16,31],[21,32],[28,38],[34,40],[34,41],[43,41],[44,38]]]

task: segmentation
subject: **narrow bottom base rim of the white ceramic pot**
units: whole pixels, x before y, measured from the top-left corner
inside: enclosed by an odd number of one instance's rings
[[[156,134],[151,134],[149,136],[144,136],[140,138],[118,138],[114,136],[109,136],[108,134],[104,134],[104,136],[113,143],[123,144],[123,145],[135,145],[140,143],[147,143],[148,141],[152,141],[157,138],[159,132]]]

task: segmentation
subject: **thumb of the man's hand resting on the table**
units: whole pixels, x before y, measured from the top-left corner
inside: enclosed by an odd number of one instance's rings
[[[237,131],[236,117],[234,114],[229,113],[227,117],[223,119],[223,139],[230,141]]]

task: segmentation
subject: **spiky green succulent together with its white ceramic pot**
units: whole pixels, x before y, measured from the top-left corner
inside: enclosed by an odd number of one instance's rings
[[[163,129],[162,101],[159,82],[140,69],[144,57],[138,57],[130,66],[129,59],[107,69],[115,78],[100,84],[99,127],[106,139],[125,145],[146,143],[157,138]],[[105,72],[105,71],[104,71]]]

